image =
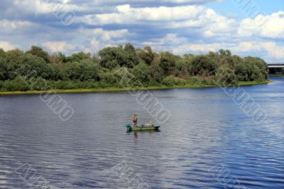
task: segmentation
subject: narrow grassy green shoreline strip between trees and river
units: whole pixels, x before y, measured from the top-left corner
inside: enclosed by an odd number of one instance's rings
[[[238,85],[227,85],[222,87],[235,87],[235,86],[251,86],[251,85],[265,85],[271,83],[270,80],[263,82],[239,82]],[[75,90],[47,90],[47,91],[12,91],[12,92],[0,92],[0,95],[37,95],[47,93],[92,93],[92,92],[119,92],[127,90],[170,90],[170,89],[202,89],[221,87],[218,85],[175,85],[175,86],[151,86],[151,87],[131,87],[131,88],[119,88],[119,87],[106,87],[106,88],[94,88],[94,89],[75,89]]]

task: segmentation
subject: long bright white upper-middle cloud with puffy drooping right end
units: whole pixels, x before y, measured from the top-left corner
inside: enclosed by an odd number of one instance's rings
[[[129,4],[116,6],[115,13],[83,16],[78,22],[90,25],[142,24],[155,28],[192,28],[207,38],[236,33],[239,23],[204,6],[159,6],[133,8]]]

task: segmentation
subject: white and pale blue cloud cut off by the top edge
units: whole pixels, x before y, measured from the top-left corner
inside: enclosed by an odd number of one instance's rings
[[[3,0],[9,1],[9,0]],[[132,6],[176,6],[179,4],[207,4],[212,1],[222,0],[14,0],[12,5],[18,10],[35,13],[36,15],[54,13],[60,10],[80,12],[104,12],[109,10],[111,6],[119,6],[123,4],[131,4]]]

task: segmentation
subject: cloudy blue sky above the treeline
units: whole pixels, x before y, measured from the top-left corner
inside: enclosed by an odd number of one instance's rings
[[[283,0],[0,0],[0,48],[92,54],[151,45],[178,55],[229,49],[284,63]]]

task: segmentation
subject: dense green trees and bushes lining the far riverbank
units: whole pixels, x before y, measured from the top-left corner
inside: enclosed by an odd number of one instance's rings
[[[231,55],[229,50],[181,57],[169,52],[155,53],[149,46],[136,49],[128,43],[104,48],[94,56],[83,52],[67,56],[62,53],[50,55],[42,48],[32,46],[26,52],[0,49],[0,90],[42,90],[45,80],[53,89],[123,87],[114,77],[119,68],[128,70],[140,81],[137,85],[146,87],[268,79],[264,60],[241,58]],[[39,82],[33,84],[35,79]]]

